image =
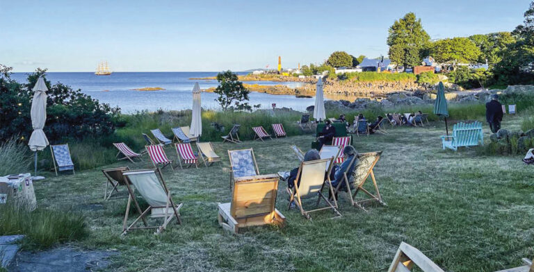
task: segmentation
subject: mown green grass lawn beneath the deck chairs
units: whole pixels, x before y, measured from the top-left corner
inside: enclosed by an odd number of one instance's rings
[[[503,128],[519,128],[519,118],[505,118]],[[534,256],[533,167],[519,156],[443,151],[441,123],[388,131],[354,139],[359,152],[384,151],[375,176],[387,206],[369,203],[364,212],[350,206],[342,193],[341,218],[330,219],[332,213],[323,211],[307,221],[298,210],[286,209],[286,184],[280,182],[277,209],[286,216],[282,229],[253,227],[232,235],[218,226],[216,203],[231,200],[227,150],[254,148],[260,173],[289,171],[298,167],[291,144],[307,151],[312,135],[238,145],[217,142],[222,164],[165,168],[163,178],[175,201],[184,203],[183,224],[172,224],[159,236],[139,230],[120,237],[126,198],[103,201],[101,169],[58,178],[47,174],[46,180],[35,182],[35,192],[41,207],[87,216],[90,235],[79,245],[118,250],[110,271],[387,271],[401,241],[446,271],[495,271]],[[166,151],[175,158],[172,148]],[[152,167],[146,155],[144,160],[104,168]]]

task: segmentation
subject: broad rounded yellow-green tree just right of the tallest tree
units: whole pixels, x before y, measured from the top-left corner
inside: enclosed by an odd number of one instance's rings
[[[478,60],[481,52],[474,42],[467,37],[453,37],[434,42],[430,47],[430,55],[437,62],[472,63]]]

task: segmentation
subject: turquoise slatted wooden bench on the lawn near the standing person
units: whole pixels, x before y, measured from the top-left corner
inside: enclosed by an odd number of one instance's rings
[[[453,135],[442,136],[443,149],[451,148],[457,151],[460,146],[478,146],[483,144],[482,123],[476,121],[471,124],[458,123],[453,126]]]

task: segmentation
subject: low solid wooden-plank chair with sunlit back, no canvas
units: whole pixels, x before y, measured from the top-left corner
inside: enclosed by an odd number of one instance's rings
[[[236,178],[232,202],[217,203],[219,225],[234,233],[250,226],[284,226],[286,218],[275,208],[278,180],[276,174]]]

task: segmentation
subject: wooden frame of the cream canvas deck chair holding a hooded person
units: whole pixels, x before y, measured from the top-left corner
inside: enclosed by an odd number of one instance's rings
[[[302,176],[302,168],[306,164],[327,162],[328,160],[330,160],[330,166],[328,167],[328,171],[325,171],[325,173],[327,175],[327,180],[325,182],[323,182],[323,185],[322,185],[321,189],[319,189],[319,191],[317,192],[317,194],[318,194],[318,196],[317,196],[317,208],[315,210],[305,210],[304,207],[302,206],[302,199],[300,198],[300,192],[298,192],[298,187],[300,187],[300,185],[302,185],[302,182],[305,182],[305,180],[300,180],[300,176]],[[334,189],[332,187],[332,182],[330,181],[330,172],[332,171],[332,166],[333,165],[334,165],[334,159],[333,158],[331,158],[331,159],[323,159],[323,160],[312,160],[312,161],[309,161],[309,162],[300,162],[300,167],[298,168],[297,178],[295,179],[296,181],[300,180],[300,185],[297,184],[298,182],[295,182],[295,186],[293,187],[293,189],[291,189],[289,187],[286,187],[286,191],[289,194],[288,210],[291,209],[291,203],[293,201],[295,201],[296,205],[298,206],[298,208],[300,210],[300,214],[302,214],[302,216],[305,216],[305,218],[308,219],[308,220],[312,219],[312,217],[309,215],[311,212],[318,212],[320,210],[330,210],[330,209],[332,209],[333,212],[335,214],[337,214],[337,216],[335,216],[335,217],[341,216],[341,214],[337,210],[336,198],[334,197],[334,205],[332,205],[332,203],[330,203],[328,198],[326,198],[322,193],[324,186],[327,185],[328,189],[330,190],[330,194],[334,194]],[[321,203],[321,199],[323,199],[327,203],[327,207],[321,207],[321,208],[319,207],[319,204]]]

